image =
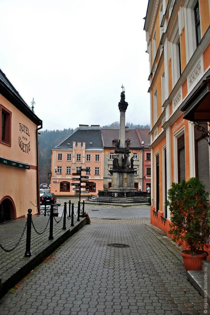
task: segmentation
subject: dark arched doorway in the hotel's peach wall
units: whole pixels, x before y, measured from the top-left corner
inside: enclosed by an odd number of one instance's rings
[[[15,219],[15,206],[9,196],[5,196],[0,201],[0,223]]]

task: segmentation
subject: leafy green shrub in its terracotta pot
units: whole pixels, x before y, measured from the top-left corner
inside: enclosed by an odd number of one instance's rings
[[[186,270],[201,270],[202,260],[207,259],[204,245],[210,235],[208,197],[205,186],[196,177],[188,181],[183,179],[179,184],[172,183],[168,190],[166,204],[171,213],[168,234],[186,248],[182,251]]]

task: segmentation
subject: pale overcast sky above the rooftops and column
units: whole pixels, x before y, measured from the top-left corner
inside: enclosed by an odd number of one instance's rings
[[[150,124],[148,0],[0,0],[0,69],[43,129]]]

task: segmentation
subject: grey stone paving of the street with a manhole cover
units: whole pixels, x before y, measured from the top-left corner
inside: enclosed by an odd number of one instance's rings
[[[177,249],[151,228],[147,207],[129,218],[126,208],[113,215],[90,206],[91,224],[7,293],[0,315],[210,314]]]

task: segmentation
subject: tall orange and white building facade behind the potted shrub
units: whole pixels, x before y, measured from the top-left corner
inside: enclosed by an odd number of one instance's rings
[[[210,193],[209,139],[184,112],[210,76],[210,1],[149,0],[144,30],[150,62],[151,223],[167,233],[165,201],[172,182],[198,177]],[[208,132],[208,123],[203,127]]]

